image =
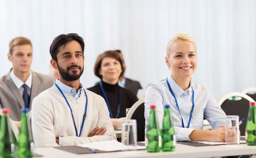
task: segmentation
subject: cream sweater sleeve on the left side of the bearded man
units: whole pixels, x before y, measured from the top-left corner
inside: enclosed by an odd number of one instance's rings
[[[51,103],[42,96],[37,96],[32,102],[32,132],[35,147],[58,147],[56,143],[53,110]]]

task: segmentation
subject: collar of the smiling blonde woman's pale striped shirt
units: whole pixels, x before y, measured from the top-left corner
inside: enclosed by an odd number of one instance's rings
[[[175,80],[172,78],[172,75],[170,75],[167,78],[167,80],[170,83],[170,86],[172,88],[172,92],[174,92],[177,97],[180,97],[180,95],[182,95],[183,93],[186,93],[187,95],[189,95],[189,93],[192,91],[192,82],[191,82],[191,80],[190,80],[190,83],[189,83],[190,86],[186,91],[183,91],[183,89],[181,89],[180,86],[177,85]]]

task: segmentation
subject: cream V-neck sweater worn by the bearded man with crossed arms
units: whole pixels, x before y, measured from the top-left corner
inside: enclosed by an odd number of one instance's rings
[[[58,137],[62,137],[63,146],[116,139],[105,100],[93,92],[85,91],[88,97],[87,115],[80,137],[76,137],[70,108],[55,85],[33,99],[32,133],[35,147],[57,147],[56,138]],[[73,110],[79,135],[86,103],[84,91],[78,99],[69,95],[65,97]],[[93,129],[102,126],[107,129],[105,135],[88,137]]]

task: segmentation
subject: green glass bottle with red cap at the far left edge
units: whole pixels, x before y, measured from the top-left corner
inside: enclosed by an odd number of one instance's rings
[[[0,158],[15,157],[15,140],[10,124],[10,109],[3,109],[0,125]]]

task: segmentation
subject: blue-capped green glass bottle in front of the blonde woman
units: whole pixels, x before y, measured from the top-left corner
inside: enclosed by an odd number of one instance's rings
[[[170,114],[170,106],[165,105],[161,131],[163,151],[174,151],[176,146],[175,130],[172,122],[172,115]]]

